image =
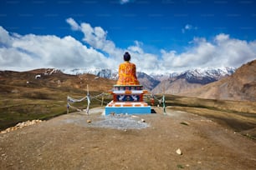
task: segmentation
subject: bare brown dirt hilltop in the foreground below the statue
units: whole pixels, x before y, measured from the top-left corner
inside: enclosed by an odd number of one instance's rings
[[[167,110],[132,117],[146,128],[117,129],[99,128],[105,121],[100,112],[0,134],[0,169],[256,168],[256,143],[205,117]]]

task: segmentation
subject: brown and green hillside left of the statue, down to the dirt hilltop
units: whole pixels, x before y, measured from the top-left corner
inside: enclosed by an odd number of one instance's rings
[[[68,75],[55,69],[0,71],[0,129],[31,119],[47,119],[66,112],[67,96],[81,98],[109,92],[114,80],[92,74]],[[91,105],[99,105],[93,101]],[[86,107],[80,103],[79,107]]]

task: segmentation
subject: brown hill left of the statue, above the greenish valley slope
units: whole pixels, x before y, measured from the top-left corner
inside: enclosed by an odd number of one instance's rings
[[[26,89],[59,89],[64,92],[72,90],[108,92],[115,81],[96,77],[92,74],[69,75],[55,69],[36,69],[28,72],[0,71],[1,92],[17,92]]]

